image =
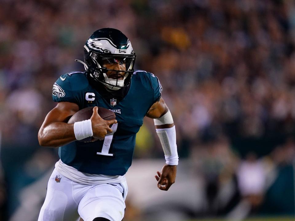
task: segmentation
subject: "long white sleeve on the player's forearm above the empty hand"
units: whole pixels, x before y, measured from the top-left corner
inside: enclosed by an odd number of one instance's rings
[[[178,165],[175,126],[164,129],[156,129],[156,131],[165,154],[166,164]]]

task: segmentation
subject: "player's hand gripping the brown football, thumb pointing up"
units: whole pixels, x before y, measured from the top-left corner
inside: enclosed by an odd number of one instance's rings
[[[103,140],[105,135],[112,133],[111,124],[117,123],[117,120],[104,120],[98,114],[98,107],[93,108],[93,114],[90,118],[92,125],[92,137],[98,140]]]

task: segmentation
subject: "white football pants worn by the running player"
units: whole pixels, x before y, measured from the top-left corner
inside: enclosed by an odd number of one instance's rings
[[[55,177],[61,177],[60,182]],[[121,221],[124,217],[126,181],[121,184],[86,185],[69,180],[53,170],[38,221],[92,221],[103,217]],[[123,198],[124,194],[124,198]]]

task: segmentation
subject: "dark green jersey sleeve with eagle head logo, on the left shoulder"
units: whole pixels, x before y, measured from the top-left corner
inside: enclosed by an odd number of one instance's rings
[[[53,84],[52,99],[54,102],[71,102],[80,106],[81,92],[74,86],[73,79],[64,74]]]

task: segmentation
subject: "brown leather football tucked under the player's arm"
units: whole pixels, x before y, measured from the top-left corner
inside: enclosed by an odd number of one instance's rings
[[[101,118],[103,118],[104,120],[114,120],[116,119],[116,115],[114,112],[103,108],[103,107],[98,107],[97,110],[98,114],[100,115]],[[93,114],[93,107],[86,107],[84,109],[81,109],[80,111],[78,111],[77,113],[75,113],[68,121],[68,123],[75,123],[75,122],[79,122],[79,121],[84,121],[84,120],[88,120],[91,118]],[[111,127],[112,125],[110,125]],[[89,142],[91,141],[92,137],[88,137],[85,138],[83,140],[79,140],[80,142]]]

